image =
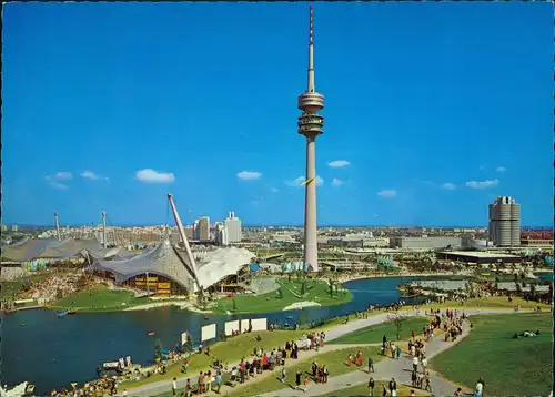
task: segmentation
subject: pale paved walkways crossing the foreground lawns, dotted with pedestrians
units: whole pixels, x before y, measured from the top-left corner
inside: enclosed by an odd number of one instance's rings
[[[454,307],[454,309],[461,311],[461,307]],[[445,312],[445,308],[442,308],[442,313]],[[475,315],[484,315],[484,314],[502,314],[502,313],[515,313],[513,311],[506,309],[506,308],[498,308],[498,309],[492,309],[492,308],[465,308],[464,312],[470,315],[470,316],[475,316]],[[406,311],[406,312],[400,312],[403,316],[407,317],[414,317],[414,316],[424,316],[425,312],[424,311]],[[518,312],[518,313],[527,313],[525,311]],[[391,313],[381,313],[377,315],[371,315],[369,318],[365,319],[352,319],[347,324],[342,324],[339,326],[335,326],[333,328],[326,329],[326,340],[333,340],[336,338],[340,338],[346,334],[350,334],[352,332],[355,332],[361,328],[365,328],[369,326],[377,325],[381,323],[385,323],[391,318],[392,314]],[[457,340],[462,340],[467,334],[470,329],[468,326],[465,327],[463,330],[462,337],[460,337]],[[433,343],[427,343],[426,344],[426,356],[427,358],[432,358],[436,354],[450,348],[453,346],[454,343],[445,342],[441,338],[434,338]],[[352,345],[330,345],[327,344],[323,349],[320,352],[325,353],[325,352],[332,352],[334,349],[343,349],[343,348],[349,348]],[[362,345],[357,345],[362,346]],[[290,365],[295,365],[300,362],[309,360],[311,357],[317,355],[315,350],[309,350],[309,352],[301,352],[299,355],[299,359],[296,360],[286,360],[286,367]],[[252,357],[250,358],[252,359]],[[374,376],[375,380],[385,380],[385,379],[391,379],[392,377],[397,380],[397,384],[410,384],[410,377],[411,377],[411,369],[412,368],[412,362],[410,357],[403,356],[398,360],[394,359],[385,359],[379,364],[375,365],[376,367],[376,375]],[[407,370],[406,370],[407,369]],[[241,386],[235,386],[233,388],[233,393],[236,393],[238,387],[246,387],[248,385],[252,385],[254,381],[261,381],[264,378],[265,374],[274,374],[275,373],[270,373],[265,371],[261,376],[249,380],[248,383],[244,383]],[[383,375],[382,375],[383,374]],[[434,396],[450,396],[454,394],[454,390],[456,387],[460,387],[452,381],[442,378],[438,376],[436,373],[431,370],[431,376],[432,376],[432,390]],[[192,384],[196,384],[196,375],[192,375],[189,378],[191,379]],[[178,388],[183,389],[186,384],[186,378],[188,377],[181,377],[178,379]],[[351,386],[356,386],[363,383],[366,383],[369,379],[369,374],[363,370],[355,370],[349,374],[344,374],[341,376],[335,376],[331,377],[325,385],[314,385],[311,384],[306,393],[300,391],[300,390],[293,390],[291,388],[285,388],[282,390],[276,390],[272,393],[268,393],[264,395],[261,395],[263,397],[271,397],[271,396],[321,396],[324,394],[329,394],[339,389],[343,389],[346,387]],[[152,397],[159,394],[163,393],[169,393],[171,391],[171,379],[167,380],[160,380],[157,383],[152,383],[149,385],[140,386],[137,388],[130,388],[128,390],[128,396],[137,396],[137,397]],[[461,386],[462,387],[462,386]],[[226,387],[224,386],[222,388],[222,394],[224,395],[226,390]],[[464,390],[464,388],[463,388]],[[120,394],[118,396],[121,396],[121,393],[123,391],[122,388],[120,388]],[[468,390],[467,390],[468,391]]]

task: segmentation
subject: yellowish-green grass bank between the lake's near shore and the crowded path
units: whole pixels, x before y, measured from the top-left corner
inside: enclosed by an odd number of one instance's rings
[[[256,342],[255,337],[260,335],[262,340]],[[283,347],[287,340],[297,340],[303,335],[302,330],[261,330],[256,333],[248,333],[229,338],[225,342],[218,342],[210,347],[211,357],[205,354],[195,354],[191,357],[188,374],[181,373],[183,363],[179,363],[168,367],[168,374],[154,375],[150,378],[144,378],[139,381],[125,381],[122,388],[138,387],[141,385],[169,380],[174,377],[186,378],[188,376],[198,375],[200,370],[209,370],[210,365],[214,359],[219,359],[230,365],[235,365],[243,357],[251,357],[254,347],[261,347],[263,350],[272,350],[273,348]]]

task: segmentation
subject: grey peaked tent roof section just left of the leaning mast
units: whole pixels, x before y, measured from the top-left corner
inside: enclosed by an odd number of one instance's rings
[[[169,240],[164,240],[159,246],[130,258],[95,261],[90,268],[113,273],[118,284],[134,276],[150,273],[173,279],[188,291],[194,291],[192,272]]]

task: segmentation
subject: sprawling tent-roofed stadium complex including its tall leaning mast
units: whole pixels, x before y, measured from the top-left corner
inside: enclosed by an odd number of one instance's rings
[[[2,250],[2,275],[7,268],[13,274],[12,278],[17,278],[49,266],[72,264],[115,285],[142,289],[149,295],[248,289],[252,277],[260,272],[260,267],[253,266],[255,254],[245,248],[221,247],[193,255],[171,194],[168,200],[184,251],[172,245],[169,236],[139,255],[123,247],[108,248],[93,238],[24,238]]]

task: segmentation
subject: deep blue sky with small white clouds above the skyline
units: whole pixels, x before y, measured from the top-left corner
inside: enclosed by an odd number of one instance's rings
[[[306,3],[9,3],[2,222],[302,224]],[[553,220],[548,3],[316,3],[320,225]],[[242,179],[241,179],[242,176]],[[291,186],[292,185],[292,186]]]

